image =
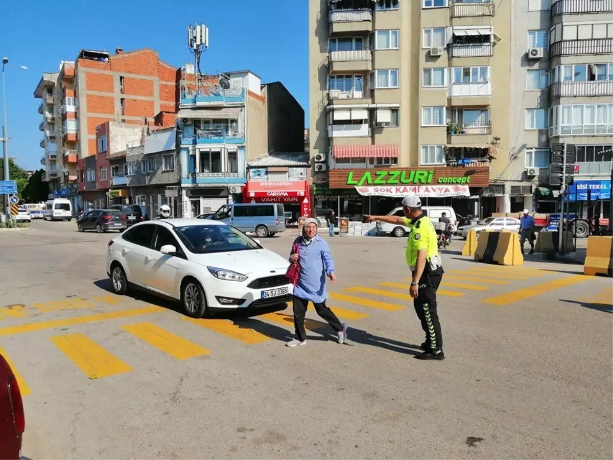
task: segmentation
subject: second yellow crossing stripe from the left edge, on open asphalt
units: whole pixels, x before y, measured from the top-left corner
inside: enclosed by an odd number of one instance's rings
[[[88,378],[96,379],[130,372],[132,367],[102,348],[85,334],[54,335],[49,340]]]

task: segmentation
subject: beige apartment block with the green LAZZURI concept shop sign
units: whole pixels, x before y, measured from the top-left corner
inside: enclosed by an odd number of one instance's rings
[[[316,205],[388,212],[406,193],[502,210],[511,2],[310,0]],[[503,193],[504,195],[504,193]]]

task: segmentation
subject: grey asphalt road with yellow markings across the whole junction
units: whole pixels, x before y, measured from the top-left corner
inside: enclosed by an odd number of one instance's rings
[[[114,235],[75,227],[0,232],[0,352],[20,374],[33,460],[613,456],[610,278],[475,263],[454,241],[447,359],[421,362],[403,240],[331,239],[349,343],[310,310],[308,344],[287,348],[291,309],[188,321],[114,296]],[[285,255],[294,232],[263,243]]]

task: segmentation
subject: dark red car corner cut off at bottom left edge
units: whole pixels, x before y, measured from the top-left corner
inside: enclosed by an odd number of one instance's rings
[[[21,391],[17,378],[0,355],[0,460],[18,460],[21,435],[26,428]]]

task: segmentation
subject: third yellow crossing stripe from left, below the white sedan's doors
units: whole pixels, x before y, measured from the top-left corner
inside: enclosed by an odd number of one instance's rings
[[[121,329],[177,359],[194,358],[211,352],[152,323],[126,324]]]

